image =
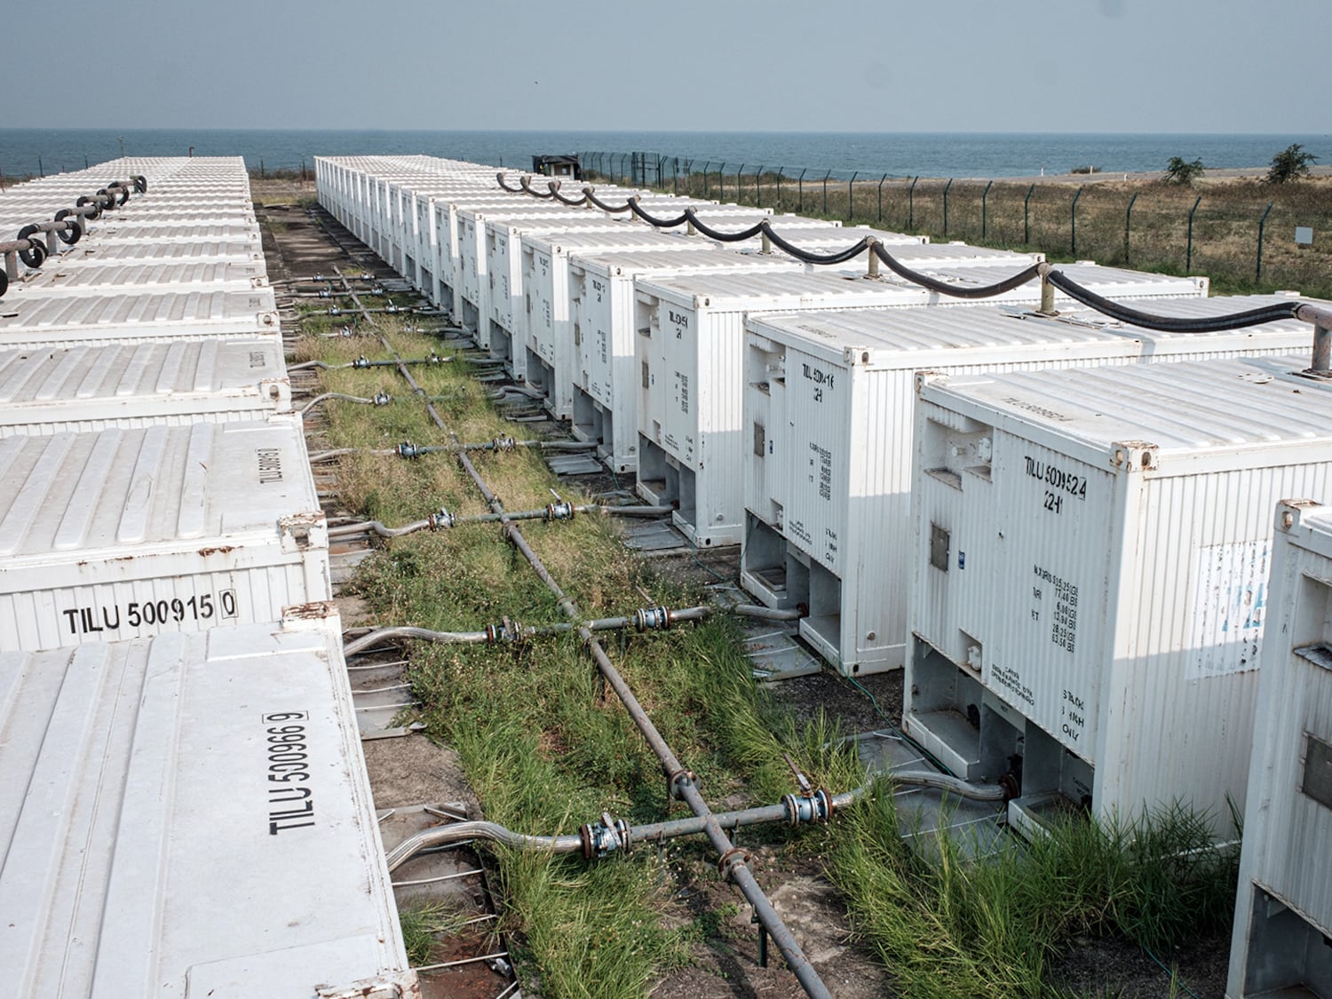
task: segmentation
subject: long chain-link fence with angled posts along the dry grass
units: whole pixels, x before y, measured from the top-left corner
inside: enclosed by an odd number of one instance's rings
[[[1207,274],[1221,290],[1332,297],[1329,181],[924,180],[645,152],[585,152],[581,161],[591,180],[1034,249],[1052,260]]]

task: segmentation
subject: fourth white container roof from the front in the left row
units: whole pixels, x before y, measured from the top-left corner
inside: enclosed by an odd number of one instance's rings
[[[5,298],[0,306],[0,337],[8,346],[278,333],[270,288]]]

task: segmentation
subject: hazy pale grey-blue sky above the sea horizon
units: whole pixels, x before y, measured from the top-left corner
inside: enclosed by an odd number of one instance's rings
[[[1323,133],[1328,37],[1332,0],[20,1],[0,125]]]

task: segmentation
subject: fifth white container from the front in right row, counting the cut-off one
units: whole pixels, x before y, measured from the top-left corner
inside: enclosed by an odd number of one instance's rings
[[[690,241],[698,237],[687,237]],[[711,249],[709,249],[711,246]],[[570,321],[574,342],[573,433],[598,442],[614,472],[639,469],[638,392],[642,365],[635,340],[643,324],[638,281],[687,274],[798,274],[790,257],[749,256],[703,241],[701,249],[574,256],[569,261]],[[635,332],[638,330],[638,332]],[[639,476],[641,477],[641,476]]]

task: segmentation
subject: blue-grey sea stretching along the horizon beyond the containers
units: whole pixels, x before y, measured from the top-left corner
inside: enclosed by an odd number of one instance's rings
[[[805,170],[823,176],[1024,177],[1095,166],[1106,173],[1163,170],[1179,156],[1204,166],[1257,168],[1299,143],[1332,163],[1332,135],[1079,135],[950,132],[389,132],[285,129],[0,128],[0,174],[83,169],[117,156],[244,156],[252,169],[300,169],[316,156],[424,153],[509,169],[531,157],[589,152],[678,157],[694,170]],[[723,165],[725,164],[725,165]],[[667,166],[667,176],[671,168]]]

